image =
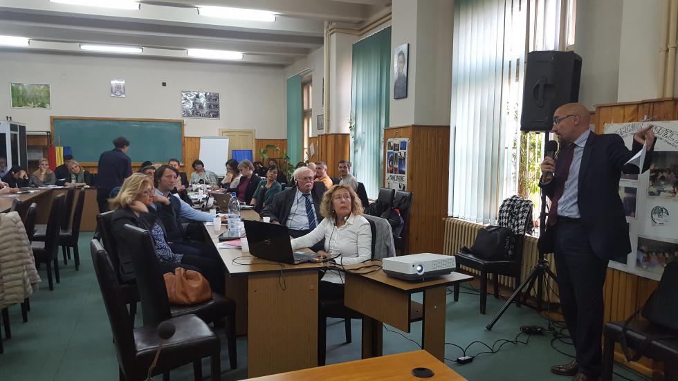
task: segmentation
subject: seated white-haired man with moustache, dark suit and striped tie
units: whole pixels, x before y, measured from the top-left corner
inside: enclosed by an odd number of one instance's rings
[[[297,168],[292,176],[297,186],[276,194],[260,214],[271,217],[272,223],[286,225],[290,235],[297,238],[311,232],[322,221],[320,200],[327,189],[323,183],[313,182],[313,171],[308,167]],[[321,243],[312,249],[322,250],[324,242]]]

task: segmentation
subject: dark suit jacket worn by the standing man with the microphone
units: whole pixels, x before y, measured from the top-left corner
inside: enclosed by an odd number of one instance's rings
[[[629,228],[619,197],[619,177],[622,171],[625,174],[639,173],[638,167],[625,165],[625,162],[642,148],[634,140],[632,150],[629,151],[621,136],[614,133],[591,133],[584,146],[579,169],[577,204],[591,247],[601,259],[612,259],[631,252]],[[643,171],[650,168],[653,151],[654,142],[652,150],[645,156]],[[558,165],[559,160],[556,158],[556,171]],[[553,197],[553,181],[540,183],[540,187],[549,198]],[[549,230],[551,229],[547,228],[549,234],[544,234],[545,236],[552,236],[553,232]]]

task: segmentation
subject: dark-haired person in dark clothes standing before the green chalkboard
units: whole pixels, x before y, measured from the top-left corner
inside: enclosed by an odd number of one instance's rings
[[[99,212],[108,210],[108,198],[111,190],[120,187],[122,181],[132,174],[132,160],[127,156],[129,149],[129,140],[119,136],[113,140],[115,148],[111,151],[105,151],[99,156],[99,167],[97,174],[97,203]]]

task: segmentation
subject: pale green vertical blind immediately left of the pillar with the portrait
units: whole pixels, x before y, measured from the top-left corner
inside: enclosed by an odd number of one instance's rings
[[[353,45],[351,160],[353,174],[376,198],[383,178],[384,128],[389,123],[391,28]]]

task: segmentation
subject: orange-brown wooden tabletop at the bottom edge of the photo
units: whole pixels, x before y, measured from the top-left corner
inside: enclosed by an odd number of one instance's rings
[[[426,351],[398,353],[383,357],[374,357],[366,360],[344,362],[313,369],[303,369],[282,374],[268,375],[255,378],[256,381],[355,381],[355,380],[383,380],[383,381],[414,381],[423,380],[412,375],[412,369],[423,367],[434,372],[432,378],[425,380],[461,381],[461,377],[452,371],[446,364]]]

